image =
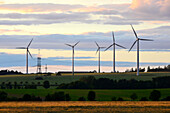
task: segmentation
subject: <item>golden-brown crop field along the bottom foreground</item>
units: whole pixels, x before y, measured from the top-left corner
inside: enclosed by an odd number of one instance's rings
[[[168,113],[170,102],[1,102],[0,112]]]

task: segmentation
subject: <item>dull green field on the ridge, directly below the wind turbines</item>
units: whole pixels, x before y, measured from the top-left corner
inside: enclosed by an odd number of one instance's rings
[[[39,75],[40,76],[40,75]],[[136,73],[86,73],[86,74],[75,74],[75,76],[71,76],[71,74],[63,74],[62,76],[43,76],[43,80],[35,80],[37,75],[0,75],[0,83],[2,82],[40,82],[42,83],[45,80],[50,81],[51,84],[61,84],[61,83],[70,83],[72,81],[79,80],[81,77],[84,76],[94,76],[95,78],[110,78],[114,80],[120,80],[120,79],[136,79],[136,80],[152,80],[154,77],[159,76],[170,76],[170,73],[162,72],[162,73],[140,73],[139,76],[136,76]]]

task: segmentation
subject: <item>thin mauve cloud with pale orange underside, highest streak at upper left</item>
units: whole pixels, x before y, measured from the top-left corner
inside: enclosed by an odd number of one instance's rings
[[[96,6],[83,6],[83,5],[61,5],[61,4],[2,4],[0,10],[15,11],[22,13],[30,12],[94,12],[103,11],[106,8],[99,8]]]

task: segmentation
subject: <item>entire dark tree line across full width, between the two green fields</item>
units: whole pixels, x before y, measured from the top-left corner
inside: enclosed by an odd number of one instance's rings
[[[152,80],[113,80],[109,78],[96,79],[94,76],[81,77],[79,80],[71,83],[50,84],[49,81],[43,83],[28,82],[2,82],[1,89],[37,89],[41,86],[45,89],[55,86],[57,89],[154,89],[170,88],[170,76],[156,77]]]

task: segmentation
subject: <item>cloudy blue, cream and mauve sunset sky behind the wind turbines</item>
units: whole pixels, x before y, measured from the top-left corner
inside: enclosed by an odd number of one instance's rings
[[[116,70],[136,67],[133,25],[140,42],[140,66],[170,64],[170,0],[0,0],[0,70],[25,72],[26,47],[30,40],[29,72],[36,72],[40,49],[42,71],[71,71],[75,47],[75,71],[98,70],[95,41],[103,47],[116,43]],[[101,71],[112,71],[112,49],[101,51]]]

